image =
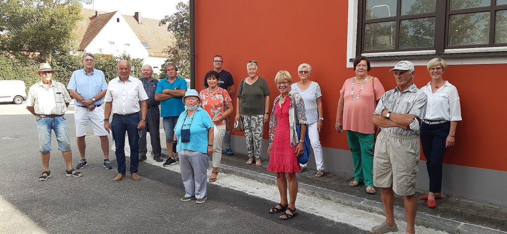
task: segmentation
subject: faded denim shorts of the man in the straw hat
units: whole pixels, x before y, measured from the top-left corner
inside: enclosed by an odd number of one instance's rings
[[[37,117],[37,130],[39,132],[39,151],[41,153],[49,153],[51,151],[51,130],[55,132],[58,149],[60,151],[71,150],[67,119],[63,115],[42,119]]]

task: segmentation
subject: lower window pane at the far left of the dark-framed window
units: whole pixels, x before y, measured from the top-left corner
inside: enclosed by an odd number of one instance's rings
[[[394,49],[396,21],[365,24],[365,50]]]

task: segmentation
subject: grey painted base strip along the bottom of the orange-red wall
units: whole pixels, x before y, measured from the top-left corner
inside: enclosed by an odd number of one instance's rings
[[[261,158],[269,158],[268,144],[268,140],[264,139]],[[232,135],[231,146],[235,152],[246,153],[245,138],[242,136]],[[352,177],[354,166],[350,150],[327,147],[322,147],[322,150],[325,170]],[[308,167],[315,169],[313,152],[310,155]],[[444,195],[449,194],[458,198],[507,206],[507,199],[505,199],[505,194],[507,194],[506,171],[444,164],[442,178],[442,193]],[[424,191],[429,188],[426,161],[419,162],[416,188]]]

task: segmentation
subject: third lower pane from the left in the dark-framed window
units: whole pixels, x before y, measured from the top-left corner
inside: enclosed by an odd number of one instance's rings
[[[451,15],[449,46],[489,43],[489,12]]]

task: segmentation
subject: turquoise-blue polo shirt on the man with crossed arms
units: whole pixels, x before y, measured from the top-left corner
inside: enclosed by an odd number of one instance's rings
[[[176,79],[172,84],[167,81],[167,76],[160,80],[157,84],[157,90],[155,93],[162,93],[164,89],[183,89],[187,90],[187,81],[176,76]],[[171,97],[167,100],[160,102],[160,117],[179,116],[182,111],[185,110],[185,104],[183,103],[183,97]]]

